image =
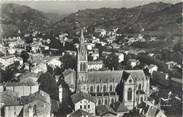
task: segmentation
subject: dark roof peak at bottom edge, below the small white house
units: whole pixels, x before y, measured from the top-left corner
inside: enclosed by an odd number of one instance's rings
[[[67,117],[94,117],[90,113],[83,111],[82,109],[79,109],[71,114],[69,114]]]

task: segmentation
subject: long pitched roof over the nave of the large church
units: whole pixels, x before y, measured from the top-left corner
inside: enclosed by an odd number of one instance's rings
[[[88,72],[88,82],[90,83],[120,82],[122,78],[124,80],[127,80],[129,75],[131,75],[134,81],[140,81],[146,79],[143,70],[91,71]]]

